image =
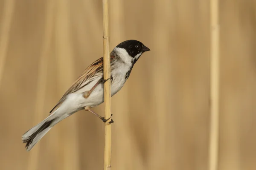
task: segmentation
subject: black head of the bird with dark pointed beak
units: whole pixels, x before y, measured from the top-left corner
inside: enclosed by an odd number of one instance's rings
[[[145,51],[150,51],[148,47],[146,47],[145,45],[143,45],[142,42],[137,40],[127,40],[127,41],[121,42],[116,47],[124,48],[131,57],[135,57],[137,54],[140,54],[140,53],[142,54]]]

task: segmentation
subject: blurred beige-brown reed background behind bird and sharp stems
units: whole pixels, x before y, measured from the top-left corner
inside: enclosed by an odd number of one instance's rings
[[[256,1],[220,1],[219,170],[256,169]],[[207,170],[207,0],[110,0],[111,50],[151,51],[112,97],[112,170]],[[0,0],[0,169],[103,169],[104,124],[79,111],[28,153],[41,122],[103,55],[101,0]],[[104,105],[93,109],[104,115]]]

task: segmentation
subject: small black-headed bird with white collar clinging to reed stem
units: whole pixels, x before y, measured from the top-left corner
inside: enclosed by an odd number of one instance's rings
[[[111,96],[116,94],[125,84],[131,70],[140,56],[150,51],[148,47],[137,40],[127,40],[117,45],[111,51]],[[23,134],[23,143],[29,151],[58,122],[80,110],[93,113],[103,122],[105,119],[91,110],[92,107],[104,102],[103,57],[89,65],[80,77],[71,85],[50,111],[49,116]],[[112,115],[111,115],[112,116]],[[113,123],[113,120],[109,123]]]

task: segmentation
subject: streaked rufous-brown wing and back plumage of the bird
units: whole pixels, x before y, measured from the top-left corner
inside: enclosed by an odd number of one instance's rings
[[[110,57],[110,62],[112,62],[114,59],[113,56]],[[62,102],[66,99],[66,96],[70,93],[73,93],[75,91],[78,91],[80,88],[84,87],[83,83],[93,77],[96,73],[103,70],[103,57],[100,59],[97,59],[95,62],[93,62],[91,65],[89,65],[84,72],[76,79],[76,81],[71,85],[71,87],[66,91],[66,93],[62,96],[60,101],[55,105],[55,107],[50,111],[52,113],[55,111]]]

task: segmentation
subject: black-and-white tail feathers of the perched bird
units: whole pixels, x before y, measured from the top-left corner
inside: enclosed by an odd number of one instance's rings
[[[55,119],[48,121],[44,120],[23,134],[22,140],[23,143],[26,143],[25,147],[27,151],[31,150],[32,147],[34,147],[35,144],[52,128],[50,125],[54,120]]]

